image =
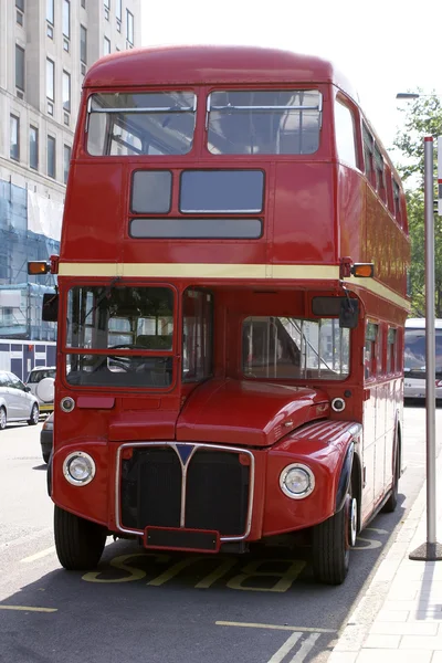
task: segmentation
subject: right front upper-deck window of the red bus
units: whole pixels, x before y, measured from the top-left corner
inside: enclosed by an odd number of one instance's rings
[[[319,146],[317,90],[223,91],[208,99],[209,150],[217,155],[311,155]]]

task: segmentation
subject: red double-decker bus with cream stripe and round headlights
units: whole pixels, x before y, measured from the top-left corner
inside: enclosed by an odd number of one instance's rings
[[[399,176],[328,62],[134,50],[83,87],[60,256],[55,543],[245,551],[315,577],[396,507],[409,236]]]

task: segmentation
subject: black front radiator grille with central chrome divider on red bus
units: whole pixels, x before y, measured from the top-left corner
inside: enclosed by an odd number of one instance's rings
[[[147,526],[181,526],[243,535],[250,463],[241,462],[236,451],[203,445],[186,445],[181,461],[177,446],[134,446],[131,457],[123,457],[122,527],[144,532]]]

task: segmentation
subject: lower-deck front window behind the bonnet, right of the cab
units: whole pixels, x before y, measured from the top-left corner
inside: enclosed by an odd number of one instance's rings
[[[245,377],[343,380],[349,373],[349,329],[337,318],[248,317],[242,334]]]

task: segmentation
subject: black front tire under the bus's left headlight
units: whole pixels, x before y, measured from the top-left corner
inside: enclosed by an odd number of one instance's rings
[[[83,571],[97,566],[107,530],[55,505],[54,535],[60,564],[70,571]]]

